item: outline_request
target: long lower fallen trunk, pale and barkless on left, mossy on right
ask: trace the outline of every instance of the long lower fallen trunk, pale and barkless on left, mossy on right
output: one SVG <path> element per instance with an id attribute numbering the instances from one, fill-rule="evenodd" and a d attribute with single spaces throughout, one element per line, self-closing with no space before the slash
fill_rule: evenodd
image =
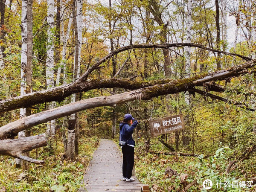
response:
<path id="1" fill-rule="evenodd" d="M 136 99 L 148 100 L 152 97 L 174 94 L 181 91 L 186 91 L 190 87 L 203 85 L 205 82 L 213 80 L 221 80 L 226 77 L 236 76 L 244 71 L 244 69 L 256 65 L 256 60 L 249 61 L 246 64 L 232 67 L 228 70 L 220 70 L 215 73 L 195 76 L 188 79 L 172 80 L 166 84 L 157 84 L 139 90 L 120 93 L 112 96 L 100 96 L 90 99 L 84 99 L 78 102 L 70 103 L 58 108 L 36 113 L 31 116 L 24 117 L 15 122 L 11 122 L 0 128 L 0 138 L 6 138 L 17 134 L 19 131 L 39 125 L 41 123 L 57 119 L 63 116 L 71 115 L 85 109 L 101 107 L 101 106 L 116 106 L 117 104 L 133 101 Z"/>

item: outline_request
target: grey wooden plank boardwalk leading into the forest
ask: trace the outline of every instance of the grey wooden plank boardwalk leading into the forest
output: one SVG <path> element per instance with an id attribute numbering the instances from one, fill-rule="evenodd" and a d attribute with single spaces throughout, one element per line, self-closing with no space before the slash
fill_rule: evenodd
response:
<path id="1" fill-rule="evenodd" d="M 101 139 L 99 148 L 87 166 L 83 187 L 80 192 L 140 192 L 142 186 L 135 176 L 135 181 L 122 181 L 122 153 L 112 140 Z"/>

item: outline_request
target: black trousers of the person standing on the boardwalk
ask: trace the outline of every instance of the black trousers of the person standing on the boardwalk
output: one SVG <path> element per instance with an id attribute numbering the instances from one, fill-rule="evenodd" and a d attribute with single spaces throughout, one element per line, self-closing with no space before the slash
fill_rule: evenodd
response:
<path id="1" fill-rule="evenodd" d="M 123 154 L 123 177 L 131 178 L 131 172 L 134 166 L 134 147 L 125 145 L 122 147 Z"/>

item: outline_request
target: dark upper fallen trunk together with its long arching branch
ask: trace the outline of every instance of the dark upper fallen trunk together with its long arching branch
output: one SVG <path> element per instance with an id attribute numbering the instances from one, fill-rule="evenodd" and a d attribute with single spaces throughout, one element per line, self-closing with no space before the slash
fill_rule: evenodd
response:
<path id="1" fill-rule="evenodd" d="M 198 44 L 192 44 L 192 43 L 176 43 L 176 44 L 154 44 L 154 45 L 131 45 L 127 47 L 122 47 L 120 49 L 116 49 L 115 51 L 109 53 L 104 58 L 102 58 L 100 61 L 98 61 L 95 65 L 90 67 L 79 79 L 76 79 L 74 83 L 65 84 L 62 86 L 54 87 L 49 90 L 41 90 L 34 93 L 26 94 L 24 96 L 17 96 L 14 98 L 6 99 L 3 101 L 0 101 L 0 113 L 18 109 L 18 108 L 28 108 L 32 105 L 36 105 L 39 103 L 44 102 L 52 102 L 52 101 L 62 101 L 65 97 L 70 96 L 73 93 L 78 93 L 81 91 L 87 91 L 91 89 L 96 88 L 113 88 L 113 87 L 119 87 L 119 88 L 126 88 L 126 89 L 138 89 L 143 87 L 148 87 L 153 84 L 163 84 L 171 81 L 170 79 L 164 79 L 164 80 L 155 80 L 155 81 L 129 81 L 128 79 L 95 79 L 91 81 L 87 81 L 87 76 L 95 70 L 97 67 L 99 67 L 100 64 L 105 62 L 108 58 L 111 58 L 113 55 L 116 55 L 119 52 L 128 50 L 128 49 L 134 49 L 134 48 L 163 48 L 167 49 L 169 47 L 198 47 L 202 49 L 207 49 L 213 52 L 221 52 L 227 55 L 232 56 L 238 56 L 240 58 L 243 58 L 247 61 L 252 60 L 249 57 L 239 55 L 236 53 L 229 53 L 229 52 L 223 52 L 220 50 L 215 50 L 211 48 L 204 47 L 202 45 Z M 241 72 L 243 73 L 243 72 Z M 246 72 L 244 72 L 246 73 Z"/>

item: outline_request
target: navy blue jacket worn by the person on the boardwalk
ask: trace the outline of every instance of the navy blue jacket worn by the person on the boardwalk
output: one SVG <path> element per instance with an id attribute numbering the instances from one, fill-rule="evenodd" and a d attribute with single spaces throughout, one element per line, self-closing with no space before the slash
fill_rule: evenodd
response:
<path id="1" fill-rule="evenodd" d="M 137 120 L 135 120 L 133 122 L 131 127 L 128 125 L 128 123 L 120 122 L 120 124 L 119 124 L 119 129 L 120 129 L 119 140 L 121 139 L 121 141 L 127 141 L 131 137 L 131 134 L 133 134 L 133 130 L 137 124 L 138 124 Z M 132 137 L 127 141 L 127 144 L 135 146 L 135 141 L 133 140 Z"/>

